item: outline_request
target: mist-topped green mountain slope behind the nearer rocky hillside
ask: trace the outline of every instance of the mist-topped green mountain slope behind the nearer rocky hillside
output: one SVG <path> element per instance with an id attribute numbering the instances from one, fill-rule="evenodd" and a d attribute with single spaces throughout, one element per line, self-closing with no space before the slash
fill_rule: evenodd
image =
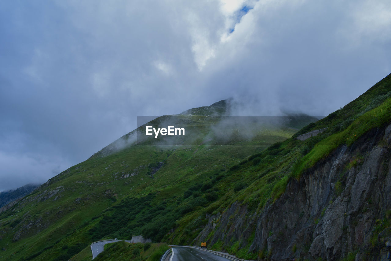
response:
<path id="1" fill-rule="evenodd" d="M 291 125 L 314 121 L 269 119 L 262 128 L 244 128 L 230 120 L 239 130 L 227 139 L 226 133 L 212 131 L 221 122 L 226 126 L 227 119 L 220 117 L 226 106 L 220 101 L 191 109 L 191 116 L 188 112 L 175 116 L 176 123 L 196 130 L 181 140 L 185 145 L 167 145 L 165 137 L 136 139 L 142 125 L 48 180 L 0 214 L 0 257 L 67 260 L 99 239 L 142 234 L 154 241 L 167 240 L 181 219 L 204 211 L 235 186 L 220 182 L 230 176 L 231 166 L 291 137 L 297 132 Z M 165 122 L 167 117 L 149 124 Z M 247 135 L 239 135 L 240 128 Z"/>

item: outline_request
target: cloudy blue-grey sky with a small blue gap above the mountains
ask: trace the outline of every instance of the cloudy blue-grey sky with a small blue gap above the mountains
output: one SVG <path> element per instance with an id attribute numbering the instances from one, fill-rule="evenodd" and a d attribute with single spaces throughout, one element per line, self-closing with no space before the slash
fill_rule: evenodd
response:
<path id="1" fill-rule="evenodd" d="M 388 3 L 387 3 L 388 2 Z M 0 2 L 0 191 L 226 98 L 328 115 L 391 72 L 389 0 Z"/>

